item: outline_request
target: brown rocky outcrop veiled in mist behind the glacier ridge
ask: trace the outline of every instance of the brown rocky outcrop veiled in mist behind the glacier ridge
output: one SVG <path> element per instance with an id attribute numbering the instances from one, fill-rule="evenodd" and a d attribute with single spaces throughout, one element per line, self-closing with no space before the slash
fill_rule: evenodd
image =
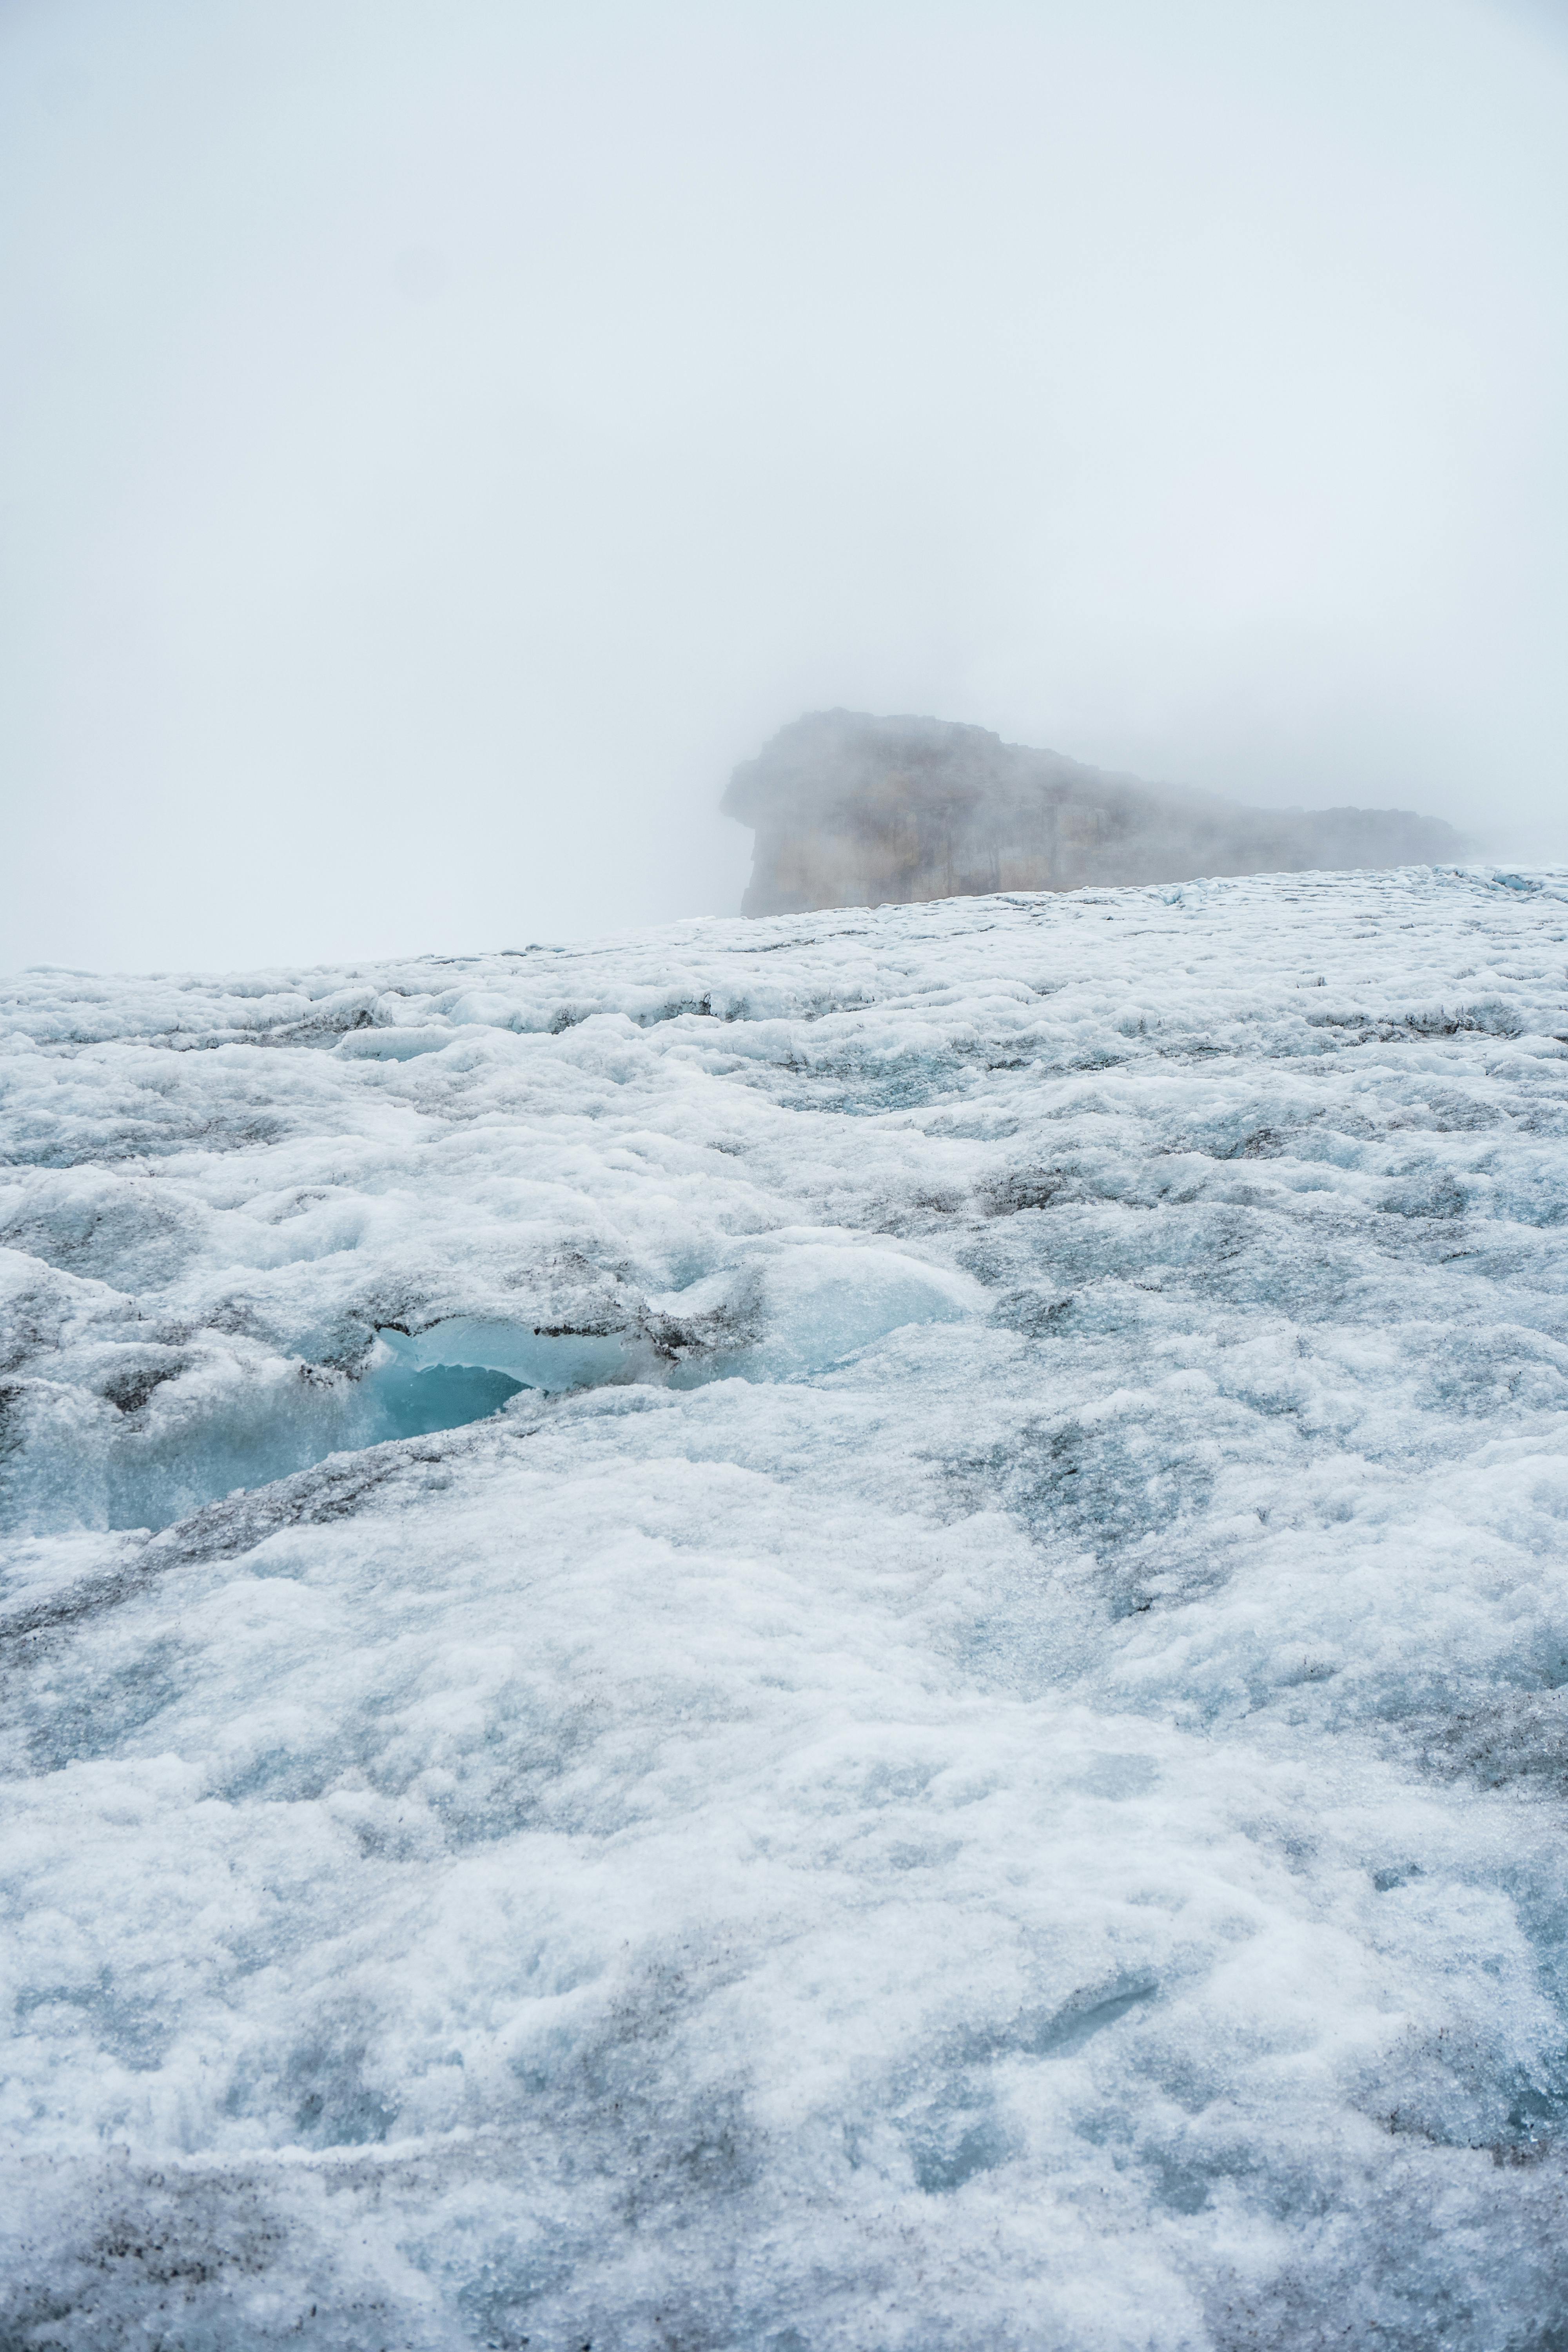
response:
<path id="1" fill-rule="evenodd" d="M 1248 809 L 1110 776 L 952 720 L 813 710 L 731 776 L 757 828 L 745 915 L 997 889 L 1425 866 L 1453 826 L 1403 809 Z"/>

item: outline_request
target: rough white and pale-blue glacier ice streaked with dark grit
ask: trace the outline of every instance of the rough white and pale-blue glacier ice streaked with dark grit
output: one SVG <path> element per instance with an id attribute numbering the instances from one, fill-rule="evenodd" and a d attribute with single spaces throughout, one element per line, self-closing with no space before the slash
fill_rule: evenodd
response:
<path id="1" fill-rule="evenodd" d="M 1563 2352 L 1568 877 L 0 1070 L 7 2347 Z"/>

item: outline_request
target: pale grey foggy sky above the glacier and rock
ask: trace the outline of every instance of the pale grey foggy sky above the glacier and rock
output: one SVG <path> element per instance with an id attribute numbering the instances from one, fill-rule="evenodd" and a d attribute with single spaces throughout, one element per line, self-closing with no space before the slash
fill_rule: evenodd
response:
<path id="1" fill-rule="evenodd" d="M 1568 854 L 1552 0 L 0 0 L 0 964 L 731 913 L 804 708 Z"/>

